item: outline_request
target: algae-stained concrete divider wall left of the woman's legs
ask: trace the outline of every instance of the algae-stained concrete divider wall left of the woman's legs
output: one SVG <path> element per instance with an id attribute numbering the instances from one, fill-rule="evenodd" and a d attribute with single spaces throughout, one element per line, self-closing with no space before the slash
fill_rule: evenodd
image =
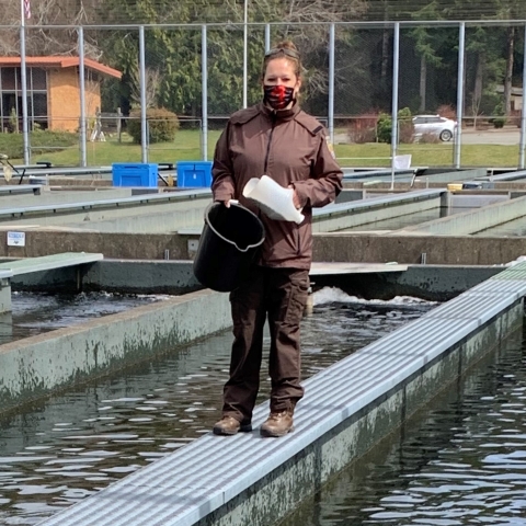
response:
<path id="1" fill-rule="evenodd" d="M 230 324 L 228 295 L 205 290 L 0 345 L 0 411 Z"/>

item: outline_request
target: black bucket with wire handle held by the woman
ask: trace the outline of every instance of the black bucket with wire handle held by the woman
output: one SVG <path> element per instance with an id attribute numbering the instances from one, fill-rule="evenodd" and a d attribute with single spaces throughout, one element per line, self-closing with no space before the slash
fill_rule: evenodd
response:
<path id="1" fill-rule="evenodd" d="M 195 277 L 213 290 L 233 290 L 245 278 L 264 239 L 263 224 L 248 208 L 211 203 L 194 260 Z"/>

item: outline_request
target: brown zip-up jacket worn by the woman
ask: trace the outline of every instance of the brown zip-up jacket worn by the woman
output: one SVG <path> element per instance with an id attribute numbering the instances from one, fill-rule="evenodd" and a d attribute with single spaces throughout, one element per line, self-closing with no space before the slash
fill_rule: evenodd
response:
<path id="1" fill-rule="evenodd" d="M 263 174 L 294 185 L 305 215 L 300 225 L 270 219 L 243 197 L 247 182 Z M 312 207 L 334 201 L 343 175 L 315 117 L 297 104 L 274 112 L 261 103 L 236 112 L 217 141 L 211 175 L 214 201 L 239 199 L 262 220 L 260 265 L 310 268 Z"/>

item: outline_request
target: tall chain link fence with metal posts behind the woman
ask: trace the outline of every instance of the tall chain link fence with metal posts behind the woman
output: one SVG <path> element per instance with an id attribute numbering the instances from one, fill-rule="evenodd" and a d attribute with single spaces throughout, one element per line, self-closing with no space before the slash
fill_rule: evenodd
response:
<path id="1" fill-rule="evenodd" d="M 329 23 L 0 26 L 0 150 L 23 132 L 24 58 L 32 161 L 210 159 L 228 116 L 261 100 L 265 49 L 291 39 L 304 62 L 301 105 L 327 125 L 342 165 L 390 167 L 410 155 L 421 165 L 524 168 L 523 24 L 356 22 L 332 31 L 331 39 Z M 128 130 L 134 119 L 138 136 Z M 65 133 L 78 136 L 75 146 L 57 145 Z"/>

